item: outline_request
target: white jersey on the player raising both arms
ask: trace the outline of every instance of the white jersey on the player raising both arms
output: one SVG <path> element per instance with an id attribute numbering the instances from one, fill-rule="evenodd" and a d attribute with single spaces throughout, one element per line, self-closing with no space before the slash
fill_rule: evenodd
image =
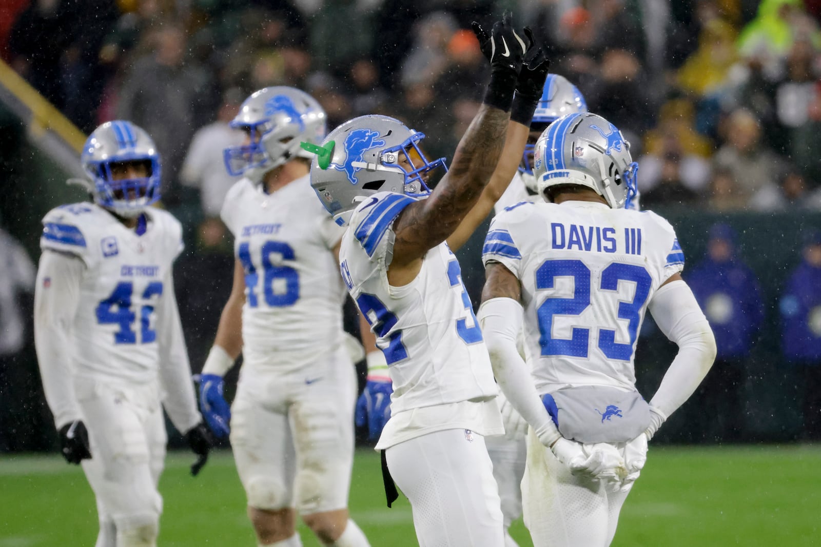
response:
<path id="1" fill-rule="evenodd" d="M 459 262 L 447 244 L 425 254 L 415 280 L 388 285 L 391 226 L 413 202 L 391 192 L 369 196 L 351 216 L 339 253 L 342 278 L 388 361 L 394 415 L 497 393 Z"/>

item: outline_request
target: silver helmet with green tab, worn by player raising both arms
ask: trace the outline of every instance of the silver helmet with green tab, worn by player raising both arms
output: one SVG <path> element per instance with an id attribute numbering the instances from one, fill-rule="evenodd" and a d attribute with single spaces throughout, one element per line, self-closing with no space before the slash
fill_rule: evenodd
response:
<path id="1" fill-rule="evenodd" d="M 424 133 L 388 116 L 360 116 L 333 130 L 323 145 L 303 144 L 317 155 L 310 184 L 334 221 L 344 226 L 356 206 L 371 194 L 389 191 L 426 198 L 429 172 L 445 158 L 429 162 L 419 143 Z"/>

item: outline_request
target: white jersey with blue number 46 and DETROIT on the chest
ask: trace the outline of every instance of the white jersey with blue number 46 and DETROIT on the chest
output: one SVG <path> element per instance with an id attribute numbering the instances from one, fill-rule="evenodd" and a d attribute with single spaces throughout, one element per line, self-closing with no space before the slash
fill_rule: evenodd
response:
<path id="1" fill-rule="evenodd" d="M 228 191 L 221 216 L 245 268 L 244 367 L 296 370 L 342 344 L 345 288 L 333 248 L 345 230 L 309 176 L 273 194 L 242 179 Z"/>

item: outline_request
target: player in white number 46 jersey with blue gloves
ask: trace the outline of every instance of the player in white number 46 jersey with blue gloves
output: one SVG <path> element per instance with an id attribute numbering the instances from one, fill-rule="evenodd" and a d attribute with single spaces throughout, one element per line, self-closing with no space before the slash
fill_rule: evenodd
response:
<path id="1" fill-rule="evenodd" d="M 337 267 L 344 230 L 310 187 L 310 153 L 325 112 L 290 87 L 252 93 L 232 127 L 245 144 L 225 150 L 243 175 L 222 205 L 236 267 L 216 340 L 200 377 L 209 426 L 229 433 L 259 545 L 302 545 L 296 513 L 323 545 L 361 547 L 348 516 L 355 368 L 342 329 L 345 287 Z M 223 380 L 243 365 L 231 412 Z"/>

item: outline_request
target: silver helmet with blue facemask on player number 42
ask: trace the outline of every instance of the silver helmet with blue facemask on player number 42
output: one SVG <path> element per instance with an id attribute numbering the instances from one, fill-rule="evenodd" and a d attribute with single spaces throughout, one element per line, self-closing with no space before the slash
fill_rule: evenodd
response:
<path id="1" fill-rule="evenodd" d="M 115 179 L 112 166 L 140 162 L 145 176 Z M 159 199 L 160 162 L 157 147 L 149 134 L 130 121 L 108 121 L 89 135 L 83 145 L 80 164 L 92 184 L 84 185 L 101 207 L 121 217 L 137 217 Z"/>

